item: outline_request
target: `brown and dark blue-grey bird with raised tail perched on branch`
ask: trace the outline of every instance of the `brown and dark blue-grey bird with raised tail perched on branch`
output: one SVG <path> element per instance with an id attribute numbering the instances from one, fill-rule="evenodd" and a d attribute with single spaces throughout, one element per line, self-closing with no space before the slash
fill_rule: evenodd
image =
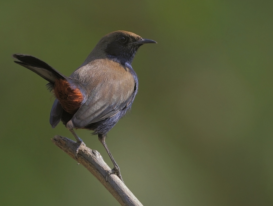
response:
<path id="1" fill-rule="evenodd" d="M 55 128 L 62 121 L 73 134 L 78 143 L 76 158 L 79 148 L 85 144 L 74 129 L 87 129 L 98 135 L 114 165 L 108 171 L 106 181 L 111 174 L 116 174 L 123 181 L 105 138 L 131 109 L 138 91 L 138 78 L 132 61 L 138 48 L 148 43 L 157 42 L 132 32 L 111 32 L 99 40 L 83 64 L 69 77 L 31 55 L 12 55 L 15 63 L 48 81 L 47 88 L 56 97 L 49 122 Z"/>

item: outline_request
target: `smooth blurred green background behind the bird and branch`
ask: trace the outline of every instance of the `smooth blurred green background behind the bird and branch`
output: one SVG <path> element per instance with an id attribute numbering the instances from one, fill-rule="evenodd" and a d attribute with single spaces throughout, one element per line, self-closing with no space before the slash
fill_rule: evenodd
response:
<path id="1" fill-rule="evenodd" d="M 50 138 L 46 81 L 13 63 L 34 55 L 70 75 L 103 35 L 142 46 L 132 112 L 108 133 L 143 205 L 273 205 L 273 1 L 1 1 L 1 205 L 119 205 Z M 90 131 L 87 146 L 113 165 Z M 74 140 L 74 139 L 73 139 Z"/>

